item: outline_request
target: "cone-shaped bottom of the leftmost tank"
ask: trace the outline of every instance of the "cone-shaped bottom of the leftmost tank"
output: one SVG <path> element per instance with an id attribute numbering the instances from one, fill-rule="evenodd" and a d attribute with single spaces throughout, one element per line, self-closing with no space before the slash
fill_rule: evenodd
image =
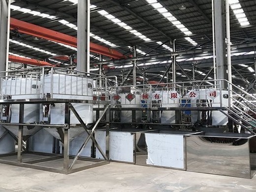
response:
<path id="1" fill-rule="evenodd" d="M 8 129 L 10 132 L 12 132 L 18 138 L 19 126 L 3 125 L 3 127 Z M 34 135 L 40 129 L 41 129 L 40 126 L 34 126 L 33 124 L 31 124 L 30 126 L 23 126 L 23 140 L 27 141 L 32 135 Z"/>

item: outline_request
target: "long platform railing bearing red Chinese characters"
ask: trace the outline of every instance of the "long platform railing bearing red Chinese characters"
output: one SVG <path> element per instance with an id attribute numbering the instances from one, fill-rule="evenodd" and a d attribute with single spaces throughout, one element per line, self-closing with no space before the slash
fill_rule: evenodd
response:
<path id="1" fill-rule="evenodd" d="M 227 107 L 226 80 L 161 83 L 109 88 L 112 106 L 118 107 Z"/>

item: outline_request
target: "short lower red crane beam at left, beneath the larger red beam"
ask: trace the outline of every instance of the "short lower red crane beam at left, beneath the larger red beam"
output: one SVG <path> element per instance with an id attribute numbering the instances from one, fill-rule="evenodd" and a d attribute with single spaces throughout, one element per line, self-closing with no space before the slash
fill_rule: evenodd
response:
<path id="1" fill-rule="evenodd" d="M 15 63 L 21 63 L 21 64 L 31 64 L 36 66 L 56 66 L 54 64 L 49 64 L 48 62 L 18 57 L 14 55 L 9 55 L 9 61 L 15 62 Z"/>

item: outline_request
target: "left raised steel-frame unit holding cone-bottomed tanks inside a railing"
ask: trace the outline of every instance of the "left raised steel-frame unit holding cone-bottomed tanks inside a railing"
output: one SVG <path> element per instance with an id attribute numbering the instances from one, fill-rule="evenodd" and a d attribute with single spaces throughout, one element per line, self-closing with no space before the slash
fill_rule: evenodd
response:
<path id="1" fill-rule="evenodd" d="M 2 76 L 0 142 L 8 141 L 8 148 L 0 151 L 7 153 L 0 155 L 0 162 L 65 174 L 108 163 L 106 152 L 94 138 L 101 117 L 93 124 L 93 104 L 105 107 L 103 115 L 109 103 L 93 99 L 93 89 L 97 90 L 93 81 L 98 78 L 106 80 L 55 67 L 16 70 Z M 17 152 L 9 134 L 18 143 Z M 95 150 L 86 146 L 92 144 L 104 160 L 91 159 Z M 83 154 L 89 158 L 82 158 Z"/>

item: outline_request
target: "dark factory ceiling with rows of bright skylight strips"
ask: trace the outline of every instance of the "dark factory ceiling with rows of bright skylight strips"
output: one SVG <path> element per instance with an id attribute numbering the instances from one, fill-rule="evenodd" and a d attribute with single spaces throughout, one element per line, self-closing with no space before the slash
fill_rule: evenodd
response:
<path id="1" fill-rule="evenodd" d="M 256 1 L 229 3 L 232 77 L 246 88 L 256 73 Z M 171 64 L 176 39 L 177 81 L 213 79 L 211 0 L 91 0 L 90 8 L 91 42 L 127 56 L 120 60 L 103 56 L 99 62 L 99 55 L 92 52 L 92 72 L 104 64 L 106 75 L 118 75 L 122 81 L 132 69 L 131 47 L 136 46 L 138 83 L 159 81 Z M 77 0 L 15 0 L 11 17 L 73 37 L 77 34 Z M 76 48 L 17 29 L 11 32 L 10 54 L 65 66 L 70 60 L 60 56 L 75 58 Z M 171 82 L 171 71 L 167 74 L 163 82 Z M 128 77 L 127 83 L 131 82 Z"/>

